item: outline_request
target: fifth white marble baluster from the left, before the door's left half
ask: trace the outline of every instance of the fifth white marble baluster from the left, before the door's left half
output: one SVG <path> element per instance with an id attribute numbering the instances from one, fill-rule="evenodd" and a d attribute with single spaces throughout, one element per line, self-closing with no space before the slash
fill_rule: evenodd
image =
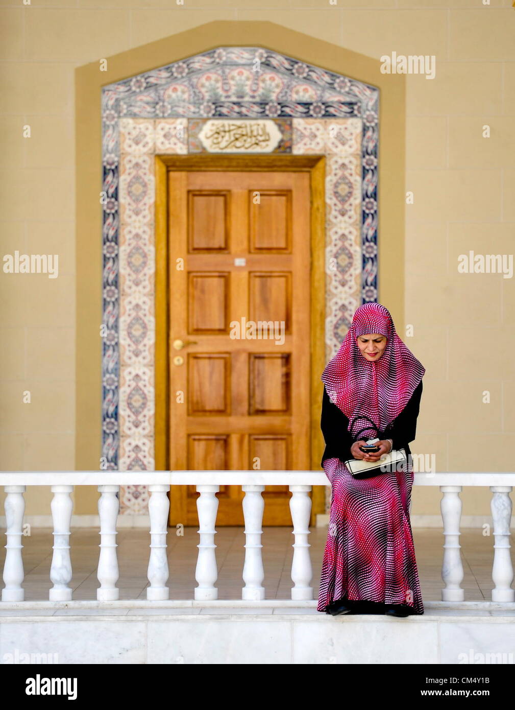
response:
<path id="1" fill-rule="evenodd" d="M 196 560 L 195 579 L 199 586 L 195 587 L 195 599 L 218 599 L 218 589 L 214 586 L 218 577 L 214 536 L 216 535 L 216 513 L 218 512 L 218 493 L 220 486 L 196 486 L 200 496 L 196 499 L 196 510 L 199 514 L 200 542 L 199 557 Z"/>

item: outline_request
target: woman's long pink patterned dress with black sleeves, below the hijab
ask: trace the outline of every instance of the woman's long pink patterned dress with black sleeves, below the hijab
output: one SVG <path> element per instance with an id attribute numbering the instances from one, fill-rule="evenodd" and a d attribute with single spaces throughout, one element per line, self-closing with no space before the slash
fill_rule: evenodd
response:
<path id="1" fill-rule="evenodd" d="M 380 438 L 393 439 L 394 449 L 415 438 L 422 383 L 402 413 Z M 384 473 L 355 479 L 342 459 L 351 458 L 353 443 L 346 432 L 347 417 L 324 389 L 321 426 L 326 439 L 323 469 L 331 482 L 331 515 L 321 569 L 317 611 L 345 599 L 379 604 L 406 604 L 422 614 L 409 503 L 414 474 Z M 345 428 L 344 428 L 345 427 Z M 345 435 L 346 432 L 346 435 Z M 334 454 L 339 453 L 339 456 Z"/>

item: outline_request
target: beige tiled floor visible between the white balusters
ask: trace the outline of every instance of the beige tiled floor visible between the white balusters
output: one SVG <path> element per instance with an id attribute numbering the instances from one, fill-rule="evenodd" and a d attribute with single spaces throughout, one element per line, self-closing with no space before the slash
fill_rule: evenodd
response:
<path id="1" fill-rule="evenodd" d="M 465 601 L 488 601 L 492 590 L 493 537 L 485 537 L 482 528 L 462 530 L 463 582 Z M 416 559 L 419 567 L 424 601 L 441 600 L 441 565 L 443 535 L 436 528 L 415 528 L 413 531 Z M 327 528 L 311 528 L 311 562 L 313 564 L 314 598 L 318 596 L 319 574 L 326 543 Z M 99 555 L 99 532 L 96 528 L 72 528 L 71 556 L 73 567 L 73 599 L 96 599 L 96 564 Z M 147 567 L 150 536 L 139 528 L 118 532 L 118 565 L 120 599 L 145 599 L 148 584 Z M 176 530 L 168 532 L 168 562 L 170 567 L 170 599 L 193 599 L 195 565 L 199 535 L 196 527 L 184 528 L 184 536 Z M 218 599 L 241 599 L 242 571 L 245 550 L 243 528 L 218 528 L 216 538 L 218 564 Z M 291 528 L 263 528 L 262 555 L 265 567 L 263 586 L 266 599 L 291 599 L 290 569 L 293 537 Z M 31 530 L 23 537 L 26 601 L 48 600 L 50 563 L 52 561 L 52 530 Z M 4 547 L 0 547 L 3 567 Z M 515 564 L 514 548 L 511 549 Z"/>

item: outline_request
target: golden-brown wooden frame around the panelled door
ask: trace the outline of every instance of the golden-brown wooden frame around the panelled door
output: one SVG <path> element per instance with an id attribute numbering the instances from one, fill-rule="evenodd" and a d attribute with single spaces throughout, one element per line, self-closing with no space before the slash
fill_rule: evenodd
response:
<path id="1" fill-rule="evenodd" d="M 168 195 L 167 173 L 171 170 L 216 170 L 309 173 L 311 194 L 311 386 L 310 386 L 310 466 L 320 467 L 323 437 L 320 430 L 321 380 L 325 366 L 326 322 L 326 201 L 325 155 L 155 155 L 155 470 L 169 471 L 170 437 L 170 352 L 168 337 Z M 313 486 L 310 525 L 325 512 L 325 486 Z"/>

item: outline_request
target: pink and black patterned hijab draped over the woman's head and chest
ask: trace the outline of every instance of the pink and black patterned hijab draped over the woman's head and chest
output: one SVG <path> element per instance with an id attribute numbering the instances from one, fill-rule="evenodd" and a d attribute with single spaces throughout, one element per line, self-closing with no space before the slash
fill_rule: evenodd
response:
<path id="1" fill-rule="evenodd" d="M 385 335 L 387 346 L 380 359 L 368 361 L 356 339 L 373 333 Z M 326 365 L 321 380 L 331 402 L 348 417 L 350 433 L 357 435 L 370 420 L 384 432 L 402 412 L 425 371 L 395 332 L 388 310 L 380 303 L 370 302 L 356 310 L 350 329 Z M 370 425 L 369 432 L 362 432 L 360 439 L 375 436 L 376 431 Z"/>

